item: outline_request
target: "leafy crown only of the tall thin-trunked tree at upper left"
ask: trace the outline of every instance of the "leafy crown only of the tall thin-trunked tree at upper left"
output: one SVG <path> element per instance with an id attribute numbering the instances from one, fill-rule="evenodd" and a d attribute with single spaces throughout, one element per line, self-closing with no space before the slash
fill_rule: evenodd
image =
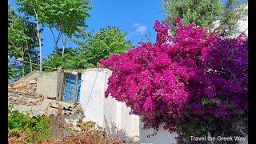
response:
<path id="1" fill-rule="evenodd" d="M 86 0 L 18 0 L 17 3 L 22 6 L 20 11 L 34 16 L 35 10 L 42 25 L 57 27 L 64 34 L 79 32 L 79 28 L 86 27 L 84 20 L 90 17 Z"/>

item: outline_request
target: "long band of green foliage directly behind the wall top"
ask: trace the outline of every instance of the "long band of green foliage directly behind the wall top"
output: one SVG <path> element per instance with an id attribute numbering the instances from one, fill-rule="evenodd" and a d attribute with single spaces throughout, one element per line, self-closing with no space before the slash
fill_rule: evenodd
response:
<path id="1" fill-rule="evenodd" d="M 86 69 L 97 66 L 102 58 L 109 58 L 111 54 L 121 54 L 130 49 L 130 42 L 125 40 L 126 34 L 120 29 L 108 26 L 99 30 L 97 34 L 87 34 L 86 42 L 80 43 L 81 47 L 66 49 L 58 48 L 56 54 L 51 54 L 43 61 L 45 70 L 52 71 L 50 67 L 62 66 L 66 70 Z"/>

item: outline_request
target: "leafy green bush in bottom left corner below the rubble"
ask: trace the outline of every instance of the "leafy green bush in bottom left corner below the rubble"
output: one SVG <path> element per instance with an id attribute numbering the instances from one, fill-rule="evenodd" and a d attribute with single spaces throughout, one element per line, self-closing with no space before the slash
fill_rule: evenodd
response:
<path id="1" fill-rule="evenodd" d="M 19 138 L 26 133 L 26 142 L 41 142 L 51 136 L 49 117 L 30 118 L 17 110 L 8 109 L 8 129 L 10 137 Z"/>

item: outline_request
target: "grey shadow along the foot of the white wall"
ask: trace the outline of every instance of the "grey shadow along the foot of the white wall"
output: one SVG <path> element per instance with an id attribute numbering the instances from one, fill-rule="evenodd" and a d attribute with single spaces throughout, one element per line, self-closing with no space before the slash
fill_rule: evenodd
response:
<path id="1" fill-rule="evenodd" d="M 104 115 L 104 123 L 105 123 L 105 128 L 108 134 L 110 134 L 111 138 L 118 138 L 118 139 L 122 139 L 122 141 L 124 143 L 133 143 L 133 144 L 137 144 L 138 142 L 134 142 L 134 138 L 129 137 L 126 134 L 125 130 L 119 130 L 118 129 L 118 125 L 115 122 L 112 122 L 112 120 L 110 119 L 110 122 L 106 121 L 106 117 Z"/>

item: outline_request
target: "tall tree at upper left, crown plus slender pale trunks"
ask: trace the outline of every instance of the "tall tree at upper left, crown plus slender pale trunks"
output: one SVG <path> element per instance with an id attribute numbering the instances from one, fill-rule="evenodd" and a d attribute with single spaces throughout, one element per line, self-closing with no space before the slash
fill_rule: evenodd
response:
<path id="1" fill-rule="evenodd" d="M 73 36 L 80 38 L 85 31 L 86 18 L 90 15 L 87 0 L 18 0 L 21 6 L 19 10 L 26 15 L 35 18 L 37 28 L 47 26 L 54 37 L 54 49 L 62 38 L 62 55 L 64 55 L 66 42 Z M 58 30 L 58 36 L 54 35 L 53 29 Z M 40 70 L 42 70 L 42 46 L 41 34 L 38 31 L 38 42 L 40 48 Z"/>

